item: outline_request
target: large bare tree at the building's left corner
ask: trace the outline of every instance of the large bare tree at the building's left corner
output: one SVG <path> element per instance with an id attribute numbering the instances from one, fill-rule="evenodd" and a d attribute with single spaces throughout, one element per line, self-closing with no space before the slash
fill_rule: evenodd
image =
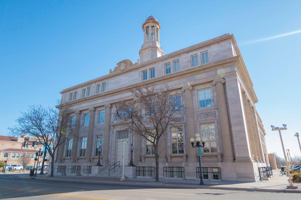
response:
<path id="1" fill-rule="evenodd" d="M 45 108 L 42 105 L 29 106 L 27 112 L 16 122 L 17 125 L 9 127 L 11 136 L 27 134 L 43 144 L 51 157 L 51 173 L 53 177 L 55 151 L 60 145 L 71 137 L 76 129 L 75 121 L 71 121 L 72 108 L 59 102 L 58 109 Z"/>

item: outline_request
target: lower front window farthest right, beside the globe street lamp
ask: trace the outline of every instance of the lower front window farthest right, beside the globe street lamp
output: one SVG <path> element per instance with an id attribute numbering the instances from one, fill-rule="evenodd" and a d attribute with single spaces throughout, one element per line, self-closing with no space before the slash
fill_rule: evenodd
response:
<path id="1" fill-rule="evenodd" d="M 215 136 L 215 125 L 214 122 L 200 124 L 202 137 L 205 138 L 205 147 L 203 148 L 204 153 L 216 153 L 216 136 Z"/>

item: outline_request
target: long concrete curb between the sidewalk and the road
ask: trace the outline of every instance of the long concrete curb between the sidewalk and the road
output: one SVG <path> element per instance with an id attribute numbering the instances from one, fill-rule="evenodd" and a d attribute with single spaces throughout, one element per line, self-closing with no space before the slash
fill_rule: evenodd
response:
<path id="1" fill-rule="evenodd" d="M 30 177 L 18 176 L 19 178 L 30 179 Z M 186 189 L 219 189 L 219 190 L 238 190 L 238 191 L 252 191 L 252 192 L 282 192 L 282 193 L 301 193 L 301 190 L 291 189 L 263 189 L 263 188 L 244 188 L 244 187 L 219 187 L 219 186 L 198 186 L 198 185 L 176 185 L 176 184 L 157 184 L 157 183 L 140 183 L 140 182 L 117 182 L 117 181 L 95 181 L 95 180 L 76 180 L 64 178 L 49 178 L 36 177 L 40 180 L 48 181 L 64 181 L 64 182 L 80 182 L 80 183 L 105 183 L 118 185 L 136 185 L 136 186 L 156 186 L 163 188 L 186 188 Z"/>

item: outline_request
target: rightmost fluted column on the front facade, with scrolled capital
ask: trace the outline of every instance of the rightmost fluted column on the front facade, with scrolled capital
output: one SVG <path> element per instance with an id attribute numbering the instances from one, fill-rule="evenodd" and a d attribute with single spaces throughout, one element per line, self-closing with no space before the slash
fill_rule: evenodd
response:
<path id="1" fill-rule="evenodd" d="M 219 109 L 219 123 L 221 129 L 221 137 L 223 143 L 223 162 L 233 162 L 233 148 L 231 141 L 231 132 L 229 126 L 229 117 L 226 104 L 226 96 L 224 90 L 225 79 L 220 79 L 212 82 L 215 85 L 217 95 L 217 106 Z"/>

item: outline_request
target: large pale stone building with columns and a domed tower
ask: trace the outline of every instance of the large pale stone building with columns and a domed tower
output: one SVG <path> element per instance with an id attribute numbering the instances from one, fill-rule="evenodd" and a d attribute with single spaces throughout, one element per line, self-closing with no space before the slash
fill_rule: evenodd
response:
<path id="1" fill-rule="evenodd" d="M 192 148 L 190 138 L 200 133 L 206 138 L 201 158 L 205 178 L 257 181 L 258 167 L 266 166 L 266 133 L 234 35 L 224 34 L 164 55 L 160 28 L 152 16 L 142 24 L 143 44 L 138 62 L 122 60 L 109 74 L 61 91 L 62 101 L 76 110 L 72 121 L 79 123 L 80 129 L 65 146 L 60 146 L 55 171 L 61 172 L 63 166 L 67 173 L 68 168 L 80 166 L 77 169 L 82 175 L 90 173 L 89 166 L 98 162 L 99 142 L 103 171 L 94 175 L 108 174 L 108 167 L 118 161 L 129 165 L 130 144 L 134 146 L 135 166 L 148 167 L 144 170 L 154 167 L 151 145 L 126 130 L 126 123 L 120 121 L 113 104 L 130 99 L 130 90 L 137 85 L 156 83 L 159 87 L 173 87 L 179 103 L 190 108 L 183 110 L 184 123 L 169 127 L 161 140 L 160 177 L 197 178 L 197 150 Z M 124 163 L 123 140 L 128 141 Z M 169 171 L 168 175 L 164 170 Z M 173 170 L 185 173 L 174 175 L 170 172 Z"/>

